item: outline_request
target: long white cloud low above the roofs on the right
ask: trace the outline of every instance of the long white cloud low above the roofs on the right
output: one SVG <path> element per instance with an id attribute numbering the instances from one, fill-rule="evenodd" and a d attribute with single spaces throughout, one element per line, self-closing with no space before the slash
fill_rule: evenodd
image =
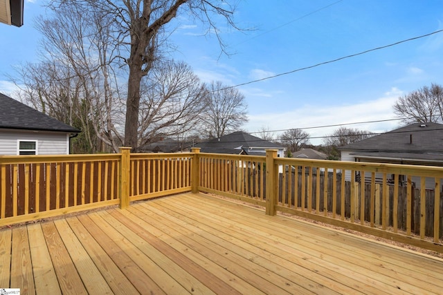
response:
<path id="1" fill-rule="evenodd" d="M 390 91 L 387 91 L 377 99 L 357 104 L 340 105 L 338 102 L 332 102 L 329 105 L 307 104 L 284 113 L 248 115 L 249 122 L 244 127 L 249 132 L 260 131 L 262 126 L 268 127 L 270 131 L 299 128 L 305 129 L 311 137 L 323 137 L 338 128 L 338 126 L 330 125 L 395 119 L 392 106 L 402 93 L 398 88 L 391 88 Z M 325 127 L 310 128 L 318 126 Z M 397 128 L 399 121 L 361 123 L 346 126 L 381 133 Z M 313 138 L 311 143 L 321 144 L 322 139 Z"/>

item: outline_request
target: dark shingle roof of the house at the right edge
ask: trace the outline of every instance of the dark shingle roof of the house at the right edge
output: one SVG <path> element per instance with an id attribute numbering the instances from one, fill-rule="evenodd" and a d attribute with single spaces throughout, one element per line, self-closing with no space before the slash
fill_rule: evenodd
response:
<path id="1" fill-rule="evenodd" d="M 443 124 L 414 123 L 341 146 L 339 150 L 371 158 L 442 160 Z"/>

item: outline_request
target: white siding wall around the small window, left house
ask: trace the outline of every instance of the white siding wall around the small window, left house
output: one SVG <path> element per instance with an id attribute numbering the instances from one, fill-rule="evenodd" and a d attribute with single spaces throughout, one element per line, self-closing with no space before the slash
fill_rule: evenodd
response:
<path id="1" fill-rule="evenodd" d="M 38 155 L 66 155 L 69 137 L 66 133 L 0 130 L 0 155 L 17 155 L 17 140 L 37 140 Z"/>

